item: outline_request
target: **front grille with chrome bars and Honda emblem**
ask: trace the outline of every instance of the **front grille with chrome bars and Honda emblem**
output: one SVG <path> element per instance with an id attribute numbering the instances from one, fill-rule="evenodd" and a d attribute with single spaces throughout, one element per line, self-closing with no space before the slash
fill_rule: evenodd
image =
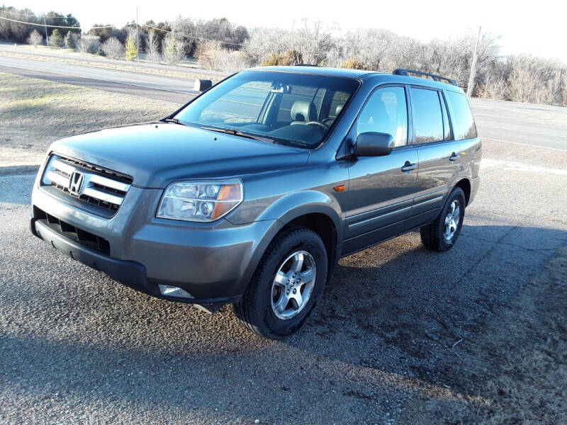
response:
<path id="1" fill-rule="evenodd" d="M 43 174 L 42 183 L 52 186 L 89 205 L 101 215 L 113 215 L 133 183 L 130 176 L 102 167 L 53 154 Z"/>

